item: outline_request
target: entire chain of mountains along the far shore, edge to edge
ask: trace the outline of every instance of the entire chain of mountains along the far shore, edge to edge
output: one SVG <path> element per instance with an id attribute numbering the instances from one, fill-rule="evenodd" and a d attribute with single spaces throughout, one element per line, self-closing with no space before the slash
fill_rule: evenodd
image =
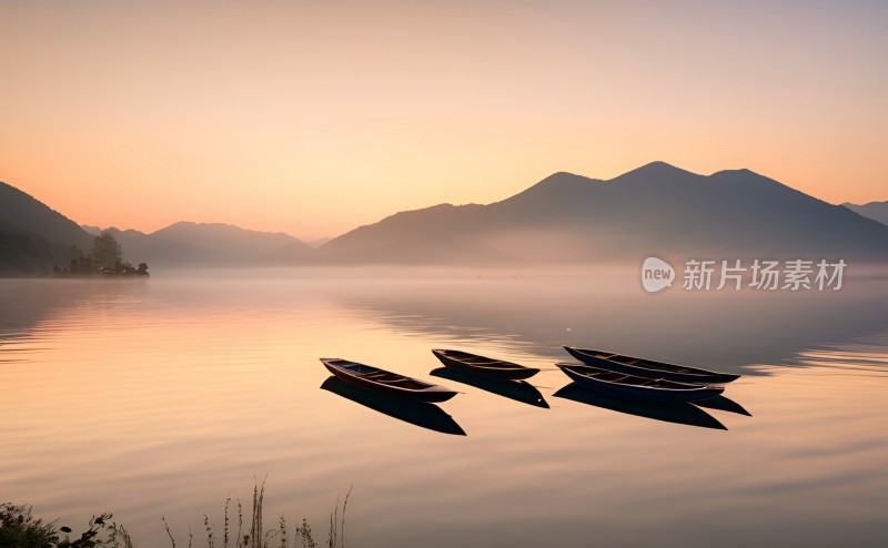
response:
<path id="1" fill-rule="evenodd" d="M 558 172 L 487 205 L 438 204 L 356 227 L 316 250 L 282 233 L 180 222 L 109 229 L 124 258 L 161 267 L 496 265 L 708 258 L 888 262 L 886 203 L 831 205 L 749 170 L 699 175 L 653 162 L 604 181 Z M 855 209 L 866 209 L 867 216 Z M 874 213 L 876 211 L 876 213 Z M 0 183 L 0 274 L 34 275 L 88 252 L 97 226 Z M 92 233 L 92 234 L 91 234 Z"/>

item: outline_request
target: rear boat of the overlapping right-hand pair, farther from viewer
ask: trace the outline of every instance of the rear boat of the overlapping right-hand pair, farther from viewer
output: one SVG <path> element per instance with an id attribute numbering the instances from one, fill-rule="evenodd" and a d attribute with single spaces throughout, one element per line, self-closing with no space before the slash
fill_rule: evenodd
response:
<path id="1" fill-rule="evenodd" d="M 740 377 L 740 375 L 730 373 L 698 369 L 613 352 L 574 348 L 573 346 L 565 346 L 564 349 L 586 365 L 646 378 L 664 378 L 692 384 L 726 384 Z"/>

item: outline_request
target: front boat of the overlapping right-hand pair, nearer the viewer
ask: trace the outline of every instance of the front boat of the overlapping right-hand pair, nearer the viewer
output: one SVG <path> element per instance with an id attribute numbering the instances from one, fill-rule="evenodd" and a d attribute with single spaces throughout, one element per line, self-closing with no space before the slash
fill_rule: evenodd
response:
<path id="1" fill-rule="evenodd" d="M 591 365 L 556 364 L 578 386 L 614 396 L 658 402 L 695 402 L 722 394 L 723 386 L 700 386 L 674 380 L 636 377 Z"/>

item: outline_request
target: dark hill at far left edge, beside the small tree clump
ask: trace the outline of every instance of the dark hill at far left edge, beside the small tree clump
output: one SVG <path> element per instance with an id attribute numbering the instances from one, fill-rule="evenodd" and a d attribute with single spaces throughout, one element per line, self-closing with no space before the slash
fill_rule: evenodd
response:
<path id="1" fill-rule="evenodd" d="M 0 182 L 0 275 L 46 274 L 91 248 L 92 236 L 77 223 Z"/>

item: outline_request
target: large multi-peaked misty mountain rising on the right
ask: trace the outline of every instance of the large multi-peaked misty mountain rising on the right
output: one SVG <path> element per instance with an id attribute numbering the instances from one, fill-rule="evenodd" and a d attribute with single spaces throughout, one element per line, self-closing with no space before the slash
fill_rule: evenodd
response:
<path id="1" fill-rule="evenodd" d="M 654 162 L 609 181 L 555 173 L 488 205 L 442 204 L 361 226 L 326 263 L 481 264 L 675 257 L 888 261 L 888 227 L 748 170 Z"/>

